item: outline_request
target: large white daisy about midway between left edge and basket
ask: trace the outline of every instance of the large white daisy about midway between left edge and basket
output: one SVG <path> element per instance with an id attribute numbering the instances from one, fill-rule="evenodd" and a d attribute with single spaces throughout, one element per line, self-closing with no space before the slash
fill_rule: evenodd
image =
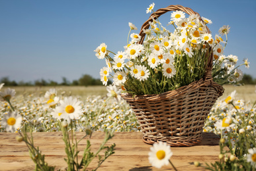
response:
<path id="1" fill-rule="evenodd" d="M 77 119 L 82 115 L 81 101 L 73 97 L 65 97 L 64 100 L 60 101 L 60 106 L 56 107 L 56 110 L 64 114 L 66 120 Z"/>

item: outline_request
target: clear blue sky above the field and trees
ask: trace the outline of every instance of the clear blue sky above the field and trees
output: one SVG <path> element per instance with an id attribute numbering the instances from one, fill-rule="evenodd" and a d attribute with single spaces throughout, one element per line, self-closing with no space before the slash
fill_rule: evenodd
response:
<path id="1" fill-rule="evenodd" d="M 110 51 L 123 51 L 128 22 L 140 32 L 148 20 L 146 9 L 169 5 L 190 7 L 212 20 L 212 35 L 229 25 L 228 45 L 224 55 L 237 55 L 238 64 L 248 58 L 250 68 L 241 66 L 256 78 L 255 28 L 256 1 L 65 1 L 0 0 L 0 78 L 25 82 L 78 80 L 83 74 L 99 78 L 105 61 L 94 50 L 106 43 Z M 171 12 L 159 18 L 167 26 Z"/>

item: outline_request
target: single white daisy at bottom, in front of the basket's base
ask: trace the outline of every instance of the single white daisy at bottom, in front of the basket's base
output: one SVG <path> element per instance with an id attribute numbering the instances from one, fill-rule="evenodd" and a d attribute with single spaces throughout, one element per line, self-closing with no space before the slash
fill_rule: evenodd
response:
<path id="1" fill-rule="evenodd" d="M 167 143 L 159 142 L 154 143 L 153 147 L 150 147 L 149 162 L 156 168 L 161 168 L 163 165 L 169 163 L 169 159 L 173 155 L 171 147 Z"/>

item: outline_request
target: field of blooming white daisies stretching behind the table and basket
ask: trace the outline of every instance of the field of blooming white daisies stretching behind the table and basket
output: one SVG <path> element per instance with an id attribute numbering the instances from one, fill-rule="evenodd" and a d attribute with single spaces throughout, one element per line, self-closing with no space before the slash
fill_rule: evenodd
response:
<path id="1" fill-rule="evenodd" d="M 229 155 L 226 155 L 227 151 L 221 151 L 220 166 L 224 167 L 230 164 L 230 167 L 237 168 L 243 165 L 251 170 L 256 166 L 255 86 L 224 87 L 226 91 L 212 108 L 203 131 L 220 135 L 222 138 L 220 147 L 228 146 L 230 148 Z M 4 95 L 8 89 L 10 88 L 3 86 L 1 95 Z M 58 97 L 58 101 L 62 101 L 62 103 L 67 99 L 80 102 L 81 115 L 71 119 L 74 123 L 72 129 L 75 132 L 88 130 L 140 132 L 140 124 L 136 120 L 136 116 L 129 105 L 123 99 L 118 98 L 120 91 L 117 89 L 108 88 L 107 91 L 105 86 L 11 87 L 11 89 L 15 92 L 9 93 L 11 105 L 22 120 L 19 128 L 16 128 L 16 131 L 13 130 L 15 132 L 24 126 L 27 131 L 32 132 L 59 132 L 62 130 L 61 118 L 58 118 L 60 112 L 53 112 L 55 106 L 50 100 L 52 94 L 54 94 L 54 98 Z M 76 105 L 73 106 L 76 107 Z M 10 110 L 9 103 L 2 99 L 0 101 L 0 132 L 10 131 L 7 124 L 4 123 L 5 116 L 9 114 Z M 67 128 L 70 130 L 70 125 Z M 198 162 L 200 165 L 200 161 Z M 218 166 L 215 167 L 218 168 Z"/>

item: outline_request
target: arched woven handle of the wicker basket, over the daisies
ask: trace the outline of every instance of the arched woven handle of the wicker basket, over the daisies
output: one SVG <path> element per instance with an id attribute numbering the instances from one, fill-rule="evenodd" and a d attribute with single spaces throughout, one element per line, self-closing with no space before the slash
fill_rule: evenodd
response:
<path id="1" fill-rule="evenodd" d="M 149 19 L 148 20 L 146 20 L 146 22 L 144 22 L 144 24 L 142 25 L 142 28 L 140 29 L 140 36 L 142 36 L 142 38 L 141 38 L 141 40 L 140 40 L 140 42 L 138 42 L 138 43 L 140 43 L 140 44 L 142 44 L 143 43 L 143 41 L 144 41 L 144 38 L 145 38 L 145 36 L 146 36 L 146 34 L 143 32 L 143 30 L 145 29 L 148 29 L 149 28 L 149 22 L 152 22 L 153 21 L 153 19 L 152 18 L 154 18 L 154 19 L 156 19 L 156 18 L 159 18 L 159 16 L 161 16 L 162 14 L 165 14 L 166 12 L 168 12 L 168 11 L 183 11 L 183 12 L 186 12 L 187 14 L 189 14 L 189 15 L 192 15 L 192 14 L 198 14 L 198 12 L 194 12 L 194 11 L 192 11 L 192 9 L 190 9 L 190 8 L 188 8 L 188 7 L 183 7 L 183 6 L 181 6 L 181 5 L 170 5 L 170 6 L 168 6 L 168 7 L 166 7 L 166 8 L 163 8 L 163 9 L 158 9 L 157 11 L 155 11 L 155 13 L 152 13 L 151 15 L 150 15 L 150 17 L 149 17 Z M 199 16 L 199 19 L 200 20 L 202 20 L 202 18 L 200 17 L 200 15 L 198 14 L 198 16 Z M 206 26 L 206 30 L 207 30 L 207 32 L 208 33 L 210 33 L 210 30 L 209 30 L 209 28 Z M 209 57 L 208 57 L 208 62 L 207 62 L 207 64 L 206 64 L 206 70 L 210 70 L 210 72 L 211 72 L 211 70 L 212 70 L 212 62 L 213 62 L 213 54 L 211 53 L 210 55 L 209 55 Z M 208 76 L 210 76 L 211 77 L 211 73 L 210 74 L 207 74 L 207 77 Z"/>

